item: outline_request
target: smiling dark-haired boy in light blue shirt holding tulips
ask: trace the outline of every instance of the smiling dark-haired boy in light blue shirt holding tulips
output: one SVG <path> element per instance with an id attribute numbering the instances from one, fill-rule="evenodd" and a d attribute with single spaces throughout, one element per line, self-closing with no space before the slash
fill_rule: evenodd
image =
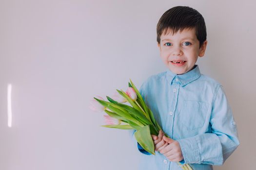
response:
<path id="1" fill-rule="evenodd" d="M 204 18 L 197 10 L 177 6 L 158 21 L 157 41 L 167 71 L 149 77 L 140 87 L 163 132 L 152 136 L 156 155 L 139 145 L 141 170 L 194 170 L 222 165 L 239 145 L 236 122 L 222 85 L 200 73 L 197 58 L 206 46 Z"/>

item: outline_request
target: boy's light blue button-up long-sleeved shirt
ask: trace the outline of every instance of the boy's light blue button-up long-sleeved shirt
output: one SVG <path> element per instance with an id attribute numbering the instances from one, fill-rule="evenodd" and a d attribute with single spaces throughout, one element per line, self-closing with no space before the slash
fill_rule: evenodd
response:
<path id="1" fill-rule="evenodd" d="M 140 93 L 163 131 L 177 140 L 194 170 L 222 165 L 239 145 L 236 122 L 222 85 L 200 73 L 198 66 L 185 74 L 170 70 L 149 77 Z M 141 154 L 140 170 L 181 170 L 164 155 Z"/>

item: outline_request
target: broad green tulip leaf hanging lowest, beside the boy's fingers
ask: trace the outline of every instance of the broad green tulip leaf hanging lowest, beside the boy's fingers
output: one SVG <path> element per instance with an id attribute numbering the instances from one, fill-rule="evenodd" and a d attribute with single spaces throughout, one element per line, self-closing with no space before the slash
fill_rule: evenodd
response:
<path id="1" fill-rule="evenodd" d="M 156 154 L 154 142 L 150 134 L 149 125 L 140 128 L 134 133 L 134 136 L 144 150 L 149 153 Z"/>

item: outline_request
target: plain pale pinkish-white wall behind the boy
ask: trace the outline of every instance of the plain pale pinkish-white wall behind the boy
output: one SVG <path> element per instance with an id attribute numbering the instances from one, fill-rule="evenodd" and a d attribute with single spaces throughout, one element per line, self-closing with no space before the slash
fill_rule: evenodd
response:
<path id="1" fill-rule="evenodd" d="M 103 113 L 88 104 L 166 70 L 156 25 L 177 5 L 203 15 L 208 47 L 197 64 L 224 86 L 237 123 L 240 146 L 215 169 L 253 170 L 253 0 L 0 0 L 0 170 L 136 169 L 127 131 L 100 127 Z"/>

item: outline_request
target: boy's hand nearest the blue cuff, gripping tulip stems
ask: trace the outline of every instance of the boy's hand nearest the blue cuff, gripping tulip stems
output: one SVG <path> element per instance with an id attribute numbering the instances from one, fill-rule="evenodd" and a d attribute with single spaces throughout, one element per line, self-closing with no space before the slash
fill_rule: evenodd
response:
<path id="1" fill-rule="evenodd" d="M 182 161 L 183 155 L 178 141 L 166 136 L 163 136 L 163 140 L 169 144 L 162 148 L 159 152 L 172 162 Z"/>

